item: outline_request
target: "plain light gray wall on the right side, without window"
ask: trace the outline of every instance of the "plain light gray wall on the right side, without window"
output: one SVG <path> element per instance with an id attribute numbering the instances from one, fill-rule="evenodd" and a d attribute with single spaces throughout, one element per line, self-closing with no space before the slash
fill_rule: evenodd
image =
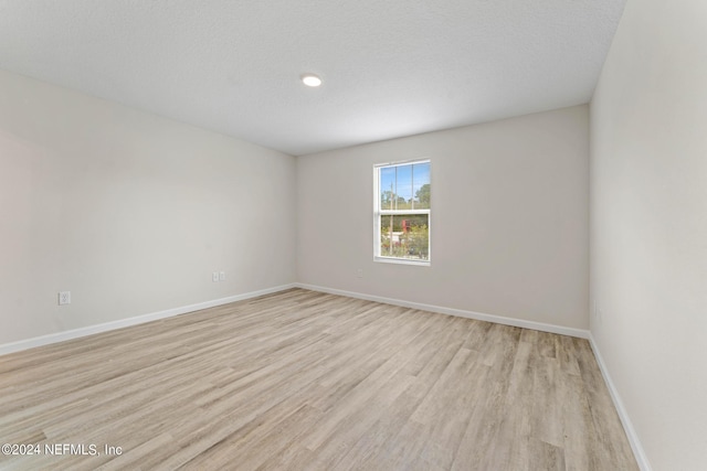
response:
<path id="1" fill-rule="evenodd" d="M 591 103 L 591 331 L 655 470 L 707 460 L 706 19 L 630 0 Z"/>

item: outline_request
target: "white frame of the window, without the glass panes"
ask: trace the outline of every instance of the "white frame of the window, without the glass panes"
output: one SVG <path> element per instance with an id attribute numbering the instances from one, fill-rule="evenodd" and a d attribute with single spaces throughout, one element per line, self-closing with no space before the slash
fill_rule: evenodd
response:
<path id="1" fill-rule="evenodd" d="M 430 163 L 430 190 L 432 190 L 432 164 L 430 159 L 414 159 L 397 162 L 376 163 L 373 165 L 373 261 L 382 261 L 387 264 L 416 265 L 429 267 L 432 260 L 432 199 L 430 200 L 430 208 L 426 210 L 382 210 L 380 207 L 380 170 L 390 167 L 403 167 L 415 163 Z M 414 195 L 413 195 L 414 197 Z M 428 215 L 428 259 L 415 260 L 411 258 L 390 257 L 380 254 L 380 218 L 384 215 L 404 216 L 408 214 L 426 214 Z"/>

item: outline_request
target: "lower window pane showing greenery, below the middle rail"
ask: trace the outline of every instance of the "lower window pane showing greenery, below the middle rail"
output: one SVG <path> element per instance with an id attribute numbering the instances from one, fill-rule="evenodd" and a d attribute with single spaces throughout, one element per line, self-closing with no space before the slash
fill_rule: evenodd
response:
<path id="1" fill-rule="evenodd" d="M 428 214 L 380 216 L 380 256 L 426 260 L 430 256 Z"/>

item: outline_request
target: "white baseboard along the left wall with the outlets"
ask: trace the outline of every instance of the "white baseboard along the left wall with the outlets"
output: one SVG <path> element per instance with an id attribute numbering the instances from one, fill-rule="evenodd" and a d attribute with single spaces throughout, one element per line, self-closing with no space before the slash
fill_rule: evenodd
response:
<path id="1" fill-rule="evenodd" d="M 119 319 L 117 321 L 105 322 L 102 324 L 87 325 L 85 328 L 51 333 L 48 335 L 35 336 L 32 339 L 21 340 L 12 343 L 6 343 L 3 345 L 0 345 L 0 355 L 6 355 L 8 353 L 19 352 L 28 349 L 34 349 L 35 346 L 64 342 L 66 340 L 78 339 L 81 336 L 93 335 L 95 333 L 107 332 L 115 329 L 123 329 L 130 325 L 137 325 L 145 322 L 156 321 L 158 319 L 171 318 L 173 315 L 184 314 L 187 312 L 199 311 L 201 309 L 213 308 L 215 306 L 221 306 L 221 304 L 228 304 L 229 302 L 242 301 L 244 299 L 256 298 L 258 296 L 270 295 L 277 291 L 284 291 L 291 288 L 295 288 L 295 285 L 291 283 L 291 285 L 276 286 L 274 288 L 245 292 L 243 295 L 230 296 L 228 298 L 198 302 L 196 304 L 182 306 L 180 308 L 167 309 L 165 311 L 152 312 L 149 314 L 137 315 L 134 318 Z"/>

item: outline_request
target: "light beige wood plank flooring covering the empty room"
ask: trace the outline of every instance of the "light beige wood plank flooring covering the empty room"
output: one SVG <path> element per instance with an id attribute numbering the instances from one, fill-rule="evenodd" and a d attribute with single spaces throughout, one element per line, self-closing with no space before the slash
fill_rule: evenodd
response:
<path id="1" fill-rule="evenodd" d="M 587 341 L 303 289 L 0 356 L 0 443 L 40 446 L 13 470 L 637 469 Z"/>

